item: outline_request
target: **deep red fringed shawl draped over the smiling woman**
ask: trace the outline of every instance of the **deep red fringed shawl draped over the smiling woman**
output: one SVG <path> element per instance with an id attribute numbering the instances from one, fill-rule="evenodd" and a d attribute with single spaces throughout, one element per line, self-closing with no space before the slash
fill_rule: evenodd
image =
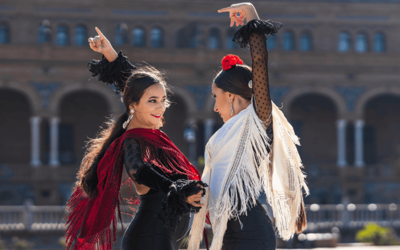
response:
<path id="1" fill-rule="evenodd" d="M 111 143 L 98 163 L 96 197 L 89 198 L 76 186 L 66 203 L 66 249 L 71 246 L 79 228 L 74 250 L 112 249 L 116 241 L 117 216 L 121 221 L 119 190 L 123 173 L 122 143 L 126 138 L 137 139 L 143 161 L 159 167 L 167 175 L 179 173 L 186 174 L 189 179 L 201 179 L 197 169 L 162 131 L 146 128 L 127 130 Z"/>

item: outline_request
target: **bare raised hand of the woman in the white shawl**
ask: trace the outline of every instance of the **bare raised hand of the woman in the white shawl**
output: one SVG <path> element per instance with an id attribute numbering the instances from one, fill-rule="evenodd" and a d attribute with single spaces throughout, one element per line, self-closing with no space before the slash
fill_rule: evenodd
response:
<path id="1" fill-rule="evenodd" d="M 229 12 L 230 26 L 233 26 L 234 22 L 236 22 L 236 26 L 239 26 L 239 24 L 244 25 L 244 18 L 246 18 L 247 22 L 259 19 L 257 11 L 255 11 L 254 6 L 249 2 L 232 4 L 230 7 L 219 9 L 218 12 Z M 237 12 L 239 12 L 240 16 L 236 15 Z"/>

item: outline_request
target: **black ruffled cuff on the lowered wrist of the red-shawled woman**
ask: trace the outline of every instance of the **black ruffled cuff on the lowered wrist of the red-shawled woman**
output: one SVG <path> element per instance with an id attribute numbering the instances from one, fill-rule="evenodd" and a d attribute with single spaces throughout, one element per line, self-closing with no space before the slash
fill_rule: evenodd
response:
<path id="1" fill-rule="evenodd" d="M 205 188 L 200 188 L 197 184 L 207 187 L 208 185 L 200 180 L 179 179 L 169 186 L 169 192 L 161 201 L 161 210 L 157 217 L 165 227 L 176 228 L 183 215 L 197 213 L 201 206 L 193 206 L 185 201 L 185 197 L 198 193 L 201 189 L 205 195 Z"/>

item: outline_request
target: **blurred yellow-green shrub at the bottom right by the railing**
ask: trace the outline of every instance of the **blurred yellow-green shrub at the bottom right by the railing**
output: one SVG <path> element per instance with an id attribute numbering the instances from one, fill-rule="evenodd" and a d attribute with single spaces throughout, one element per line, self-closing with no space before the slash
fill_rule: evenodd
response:
<path id="1" fill-rule="evenodd" d="M 375 223 L 369 223 L 355 234 L 355 239 L 363 243 L 374 245 L 400 245 L 400 240 L 390 227 L 383 227 Z"/>

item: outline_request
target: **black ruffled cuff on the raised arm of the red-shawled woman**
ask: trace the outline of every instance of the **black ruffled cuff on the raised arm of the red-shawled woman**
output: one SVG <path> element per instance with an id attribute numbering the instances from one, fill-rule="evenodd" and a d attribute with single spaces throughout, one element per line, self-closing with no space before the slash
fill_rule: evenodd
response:
<path id="1" fill-rule="evenodd" d="M 115 86 L 115 92 L 119 93 L 123 91 L 126 80 L 131 75 L 131 71 L 136 67 L 128 61 L 122 51 L 118 52 L 118 57 L 111 62 L 102 56 L 102 59 L 92 60 L 87 64 L 91 75 L 97 76 L 99 81 L 103 81 L 108 84 Z"/>

